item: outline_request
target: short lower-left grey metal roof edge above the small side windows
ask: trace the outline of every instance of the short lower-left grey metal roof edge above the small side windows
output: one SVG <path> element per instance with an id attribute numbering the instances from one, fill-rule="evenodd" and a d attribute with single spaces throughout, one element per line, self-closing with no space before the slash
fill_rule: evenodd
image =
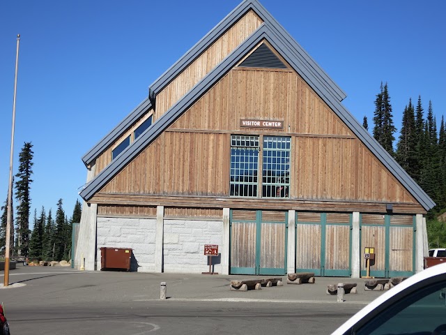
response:
<path id="1" fill-rule="evenodd" d="M 102 137 L 93 148 L 91 148 L 84 156 L 82 157 L 82 161 L 84 161 L 85 165 L 89 165 L 91 162 L 95 160 L 95 158 L 100 154 L 106 147 L 109 146 L 116 138 L 121 135 L 121 132 L 128 128 L 135 119 L 141 117 L 147 109 L 152 107 L 151 101 L 146 98 L 144 101 L 139 103 L 127 117 L 125 117 L 112 131 L 110 131 L 105 137 Z"/>

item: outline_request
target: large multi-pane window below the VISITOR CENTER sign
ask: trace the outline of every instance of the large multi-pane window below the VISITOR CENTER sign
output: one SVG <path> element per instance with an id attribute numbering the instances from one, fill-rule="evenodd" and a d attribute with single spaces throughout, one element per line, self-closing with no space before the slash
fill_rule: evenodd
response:
<path id="1" fill-rule="evenodd" d="M 289 198 L 291 137 L 262 140 L 261 145 L 260 136 L 231 136 L 231 196 Z"/>

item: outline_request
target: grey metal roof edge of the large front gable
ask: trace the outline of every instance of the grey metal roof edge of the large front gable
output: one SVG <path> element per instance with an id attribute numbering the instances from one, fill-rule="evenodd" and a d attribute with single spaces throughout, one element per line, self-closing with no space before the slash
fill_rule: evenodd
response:
<path id="1" fill-rule="evenodd" d="M 86 187 L 79 193 L 84 200 L 89 200 L 93 195 L 107 184 L 119 171 L 121 171 L 130 161 L 133 160 L 144 148 L 151 144 L 158 135 L 169 127 L 183 112 L 192 106 L 203 94 L 206 93 L 215 83 L 218 82 L 226 73 L 231 70 L 240 59 L 242 59 L 249 51 L 251 51 L 262 40 L 267 40 L 272 47 L 288 62 L 288 64 L 303 78 L 312 77 L 312 73 L 306 66 L 302 66 L 299 59 L 295 57 L 292 43 L 284 43 L 281 36 L 273 31 L 270 24 L 262 24 L 261 27 L 254 32 L 245 42 L 233 50 L 224 61 L 218 64 L 208 75 L 195 85 L 183 98 L 178 101 L 170 110 L 162 114 L 151 128 L 148 128 L 130 147 L 125 149 L 107 168 L 102 170 Z M 378 158 L 378 160 L 390 170 L 399 182 L 406 187 L 413 197 L 422 204 L 424 209 L 429 210 L 435 203 L 426 195 L 422 188 L 413 181 L 412 178 L 394 161 L 392 156 L 371 137 L 370 133 L 362 127 L 362 125 L 351 115 L 346 108 L 341 105 L 337 98 L 334 98 L 330 92 L 317 80 L 307 82 L 316 94 L 318 94 L 325 103 L 344 121 L 346 126 L 364 143 L 364 145 Z"/>

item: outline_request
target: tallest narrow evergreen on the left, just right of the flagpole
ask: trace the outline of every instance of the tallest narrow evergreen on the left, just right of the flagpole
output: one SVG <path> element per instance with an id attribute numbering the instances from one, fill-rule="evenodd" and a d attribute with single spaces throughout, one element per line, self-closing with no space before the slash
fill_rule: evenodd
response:
<path id="1" fill-rule="evenodd" d="M 31 174 L 33 173 L 33 144 L 25 142 L 19 155 L 19 172 L 15 175 L 15 198 L 19 203 L 17 206 L 17 253 L 28 256 L 29 253 L 29 211 L 31 209 Z"/>

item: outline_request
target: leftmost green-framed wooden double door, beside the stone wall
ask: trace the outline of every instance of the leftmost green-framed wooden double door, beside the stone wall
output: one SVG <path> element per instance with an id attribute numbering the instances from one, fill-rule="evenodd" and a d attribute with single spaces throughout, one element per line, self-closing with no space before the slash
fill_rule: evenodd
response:
<path id="1" fill-rule="evenodd" d="M 231 210 L 231 274 L 286 274 L 287 222 L 287 212 Z"/>

